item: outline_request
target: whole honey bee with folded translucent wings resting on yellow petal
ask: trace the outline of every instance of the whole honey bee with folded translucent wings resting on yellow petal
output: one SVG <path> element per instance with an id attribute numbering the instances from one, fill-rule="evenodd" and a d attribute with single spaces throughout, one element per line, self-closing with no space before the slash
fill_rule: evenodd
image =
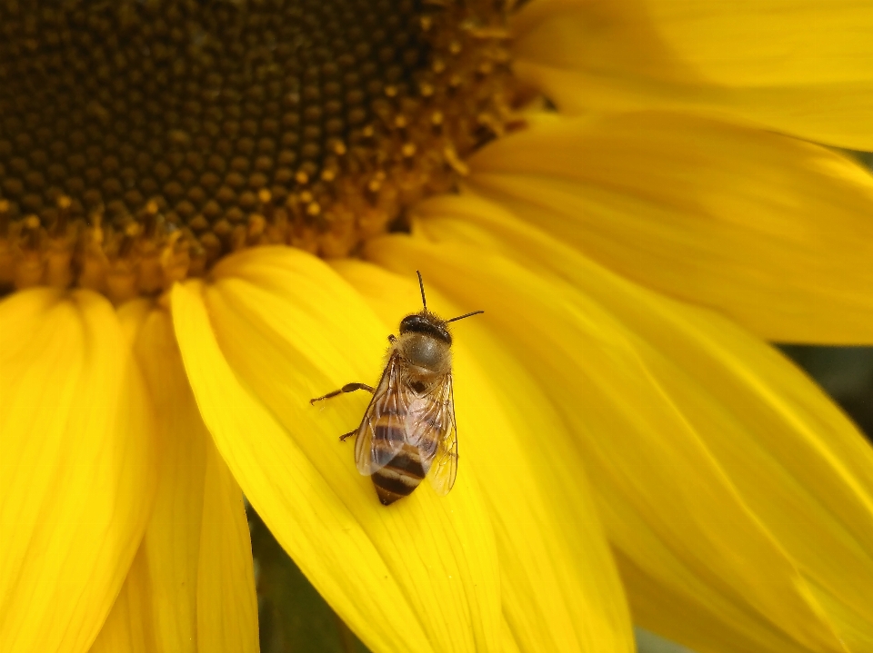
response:
<path id="1" fill-rule="evenodd" d="M 418 274 L 422 311 L 400 321 L 400 336 L 388 336 L 385 371 L 376 388 L 347 383 L 309 400 L 310 404 L 345 392 L 366 390 L 373 399 L 354 435 L 357 470 L 369 476 L 383 505 L 403 499 L 428 477 L 446 495 L 457 476 L 457 425 L 452 395 L 452 336 L 449 322 L 484 311 L 443 320 L 427 310 L 425 283 Z"/>

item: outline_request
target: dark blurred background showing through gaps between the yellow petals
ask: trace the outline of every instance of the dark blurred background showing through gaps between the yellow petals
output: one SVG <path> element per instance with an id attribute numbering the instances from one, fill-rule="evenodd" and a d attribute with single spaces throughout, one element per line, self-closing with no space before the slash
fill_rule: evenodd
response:
<path id="1" fill-rule="evenodd" d="M 873 347 L 782 346 L 873 442 Z M 873 445 L 871 445 L 873 446 Z M 366 653 L 249 510 L 262 653 Z M 693 653 L 637 630 L 640 653 Z"/>

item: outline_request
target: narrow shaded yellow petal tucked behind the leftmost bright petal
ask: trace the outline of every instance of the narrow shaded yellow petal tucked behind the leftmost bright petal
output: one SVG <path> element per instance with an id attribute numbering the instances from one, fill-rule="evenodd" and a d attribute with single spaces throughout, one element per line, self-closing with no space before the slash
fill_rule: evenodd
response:
<path id="1" fill-rule="evenodd" d="M 119 318 L 154 397 L 161 474 L 145 538 L 95 649 L 125 650 L 129 640 L 137 650 L 142 630 L 147 650 L 256 651 L 242 493 L 197 411 L 169 313 L 138 301 Z"/>

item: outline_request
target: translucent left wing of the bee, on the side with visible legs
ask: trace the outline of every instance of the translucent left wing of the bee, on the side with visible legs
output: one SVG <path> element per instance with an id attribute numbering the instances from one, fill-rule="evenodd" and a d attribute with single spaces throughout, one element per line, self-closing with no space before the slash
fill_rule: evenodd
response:
<path id="1" fill-rule="evenodd" d="M 403 447 L 406 435 L 402 420 L 405 411 L 400 371 L 400 361 L 394 353 L 357 428 L 355 463 L 357 470 L 365 476 L 385 467 Z"/>

